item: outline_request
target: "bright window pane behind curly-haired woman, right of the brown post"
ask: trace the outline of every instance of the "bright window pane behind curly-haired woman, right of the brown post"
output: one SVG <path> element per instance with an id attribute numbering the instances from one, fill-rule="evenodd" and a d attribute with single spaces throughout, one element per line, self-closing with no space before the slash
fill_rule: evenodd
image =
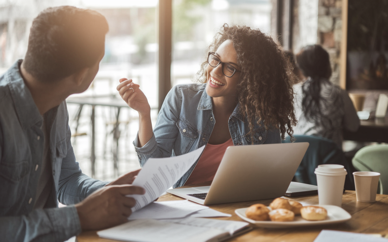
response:
<path id="1" fill-rule="evenodd" d="M 270 33 L 270 0 L 173 0 L 171 85 L 195 80 L 220 27 L 244 24 Z"/>

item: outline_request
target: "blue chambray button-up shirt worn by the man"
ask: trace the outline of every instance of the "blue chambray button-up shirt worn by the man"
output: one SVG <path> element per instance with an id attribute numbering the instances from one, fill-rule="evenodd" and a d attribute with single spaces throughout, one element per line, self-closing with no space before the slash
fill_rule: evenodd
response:
<path id="1" fill-rule="evenodd" d="M 33 209 L 43 161 L 43 117 L 24 84 L 17 61 L 0 77 L 0 240 L 64 241 L 81 232 L 74 206 L 106 185 L 81 173 L 70 142 L 66 102 L 47 115 L 52 191 Z M 58 200 L 67 206 L 57 208 Z"/>

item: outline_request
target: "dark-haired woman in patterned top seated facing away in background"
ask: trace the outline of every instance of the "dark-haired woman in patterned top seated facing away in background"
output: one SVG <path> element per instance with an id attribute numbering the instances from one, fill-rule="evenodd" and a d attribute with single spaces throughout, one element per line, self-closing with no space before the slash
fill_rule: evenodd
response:
<path id="1" fill-rule="evenodd" d="M 320 45 L 305 46 L 296 65 L 305 79 L 294 85 L 294 134 L 331 139 L 342 149 L 342 130 L 357 131 L 360 120 L 348 93 L 329 81 L 329 53 Z"/>

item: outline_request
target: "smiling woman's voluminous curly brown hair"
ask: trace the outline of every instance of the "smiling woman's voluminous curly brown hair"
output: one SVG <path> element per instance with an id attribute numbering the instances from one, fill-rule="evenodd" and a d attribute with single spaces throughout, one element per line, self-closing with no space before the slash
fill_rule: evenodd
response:
<path id="1" fill-rule="evenodd" d="M 292 126 L 297 122 L 292 88 L 295 76 L 288 58 L 279 45 L 259 29 L 227 24 L 215 35 L 209 51 L 217 50 L 227 39 L 233 43 L 242 71 L 237 98 L 239 111 L 245 113 L 251 135 L 256 122 L 266 129 L 280 129 L 282 139 L 286 132 L 293 138 Z M 197 81 L 206 82 L 207 65 L 207 61 L 201 65 Z"/>

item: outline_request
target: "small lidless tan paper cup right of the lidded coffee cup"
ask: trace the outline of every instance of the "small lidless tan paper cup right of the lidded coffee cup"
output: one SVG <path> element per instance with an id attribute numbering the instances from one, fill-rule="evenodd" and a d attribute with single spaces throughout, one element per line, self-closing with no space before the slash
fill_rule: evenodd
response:
<path id="1" fill-rule="evenodd" d="M 380 173 L 378 172 L 353 172 L 354 185 L 356 186 L 357 202 L 373 203 L 376 201 L 377 185 Z"/>

